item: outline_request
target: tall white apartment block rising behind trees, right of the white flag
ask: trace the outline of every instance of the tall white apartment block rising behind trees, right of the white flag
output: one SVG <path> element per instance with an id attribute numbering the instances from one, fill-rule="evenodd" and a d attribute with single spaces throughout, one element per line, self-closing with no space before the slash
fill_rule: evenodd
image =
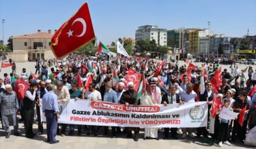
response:
<path id="1" fill-rule="evenodd" d="M 157 25 L 144 25 L 135 32 L 135 42 L 139 40 L 155 40 L 157 45 L 167 45 L 166 29 L 159 29 Z"/>

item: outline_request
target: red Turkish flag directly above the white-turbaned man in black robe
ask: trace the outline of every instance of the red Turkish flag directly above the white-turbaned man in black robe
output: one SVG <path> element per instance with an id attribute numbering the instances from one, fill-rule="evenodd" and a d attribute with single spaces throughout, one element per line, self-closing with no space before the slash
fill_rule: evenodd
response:
<path id="1" fill-rule="evenodd" d="M 125 80 L 126 82 L 133 82 L 134 83 L 134 90 L 138 91 L 138 87 L 140 86 L 140 73 L 137 71 L 134 71 L 133 69 L 129 69 L 129 72 L 127 73 Z M 125 85 L 125 89 L 127 90 L 127 86 Z"/>

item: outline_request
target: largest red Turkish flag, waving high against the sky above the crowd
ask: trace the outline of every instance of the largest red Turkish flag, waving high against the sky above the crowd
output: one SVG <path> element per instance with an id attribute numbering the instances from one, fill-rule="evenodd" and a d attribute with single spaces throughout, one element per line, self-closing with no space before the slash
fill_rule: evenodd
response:
<path id="1" fill-rule="evenodd" d="M 84 3 L 81 8 L 51 38 L 51 49 L 57 58 L 62 58 L 84 47 L 95 39 L 94 27 L 88 8 Z"/>

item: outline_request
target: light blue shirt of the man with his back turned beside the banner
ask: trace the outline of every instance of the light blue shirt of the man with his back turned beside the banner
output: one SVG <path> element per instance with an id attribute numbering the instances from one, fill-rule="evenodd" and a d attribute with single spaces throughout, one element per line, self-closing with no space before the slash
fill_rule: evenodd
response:
<path id="1" fill-rule="evenodd" d="M 58 112 L 58 97 L 53 91 L 49 91 L 44 95 L 42 109 L 43 112 L 45 112 L 45 109 L 54 110 L 55 113 Z"/>

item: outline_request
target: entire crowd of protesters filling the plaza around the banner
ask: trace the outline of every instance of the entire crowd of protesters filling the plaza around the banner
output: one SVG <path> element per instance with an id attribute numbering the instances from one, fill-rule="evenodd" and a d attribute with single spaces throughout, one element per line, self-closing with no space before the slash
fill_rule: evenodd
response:
<path id="1" fill-rule="evenodd" d="M 49 143 L 58 143 L 55 139 L 56 134 L 62 137 L 74 135 L 75 128 L 77 128 L 77 135 L 86 132 L 86 136 L 97 136 L 99 133 L 103 133 L 103 135 L 116 137 L 123 131 L 127 138 L 133 137 L 134 141 L 138 141 L 140 128 L 111 127 L 110 133 L 108 126 L 101 129 L 101 126 L 57 124 L 59 111 L 56 104 L 69 102 L 71 98 L 75 100 L 101 100 L 125 104 L 125 106 L 153 104 L 167 106 L 168 104 L 186 104 L 186 102 L 207 102 L 208 110 L 211 111 L 212 100 L 216 96 L 225 108 L 243 114 L 242 124 L 239 123 L 239 119 L 220 119 L 218 117 L 218 113 L 222 110 L 220 108 L 214 119 L 211 117 L 211 112 L 208 112 L 207 127 L 164 128 L 163 139 L 169 139 L 169 134 L 173 139 L 179 139 L 178 133 L 182 133 L 182 139 L 204 137 L 216 141 L 220 146 L 222 143 L 227 145 L 238 141 L 244 143 L 246 132 L 256 125 L 256 95 L 253 92 L 253 96 L 248 96 L 256 84 L 256 70 L 254 72 L 252 67 L 249 67 L 249 79 L 246 80 L 242 76 L 246 74 L 244 70 L 240 71 L 235 63 L 232 63 L 230 73 L 227 69 L 222 72 L 222 82 L 220 87 L 216 89 L 218 91 L 216 93 L 212 86 L 211 77 L 214 76 L 215 71 L 220 69 L 220 65 L 203 63 L 197 69 L 192 69 L 191 75 L 183 75 L 181 78 L 181 75 L 187 71 L 188 63 L 186 65 L 179 65 L 178 61 L 164 63 L 164 65 L 161 63 L 153 59 L 136 56 L 133 58 L 107 58 L 70 55 L 62 60 L 37 60 L 35 74 L 38 73 L 38 78 L 34 79 L 32 75 L 26 72 L 25 68 L 19 74 L 21 80 L 30 84 L 23 99 L 17 98 L 14 92 L 18 76 L 14 75 L 16 71 L 12 69 L 11 78 L 8 78 L 8 74 L 4 75 L 4 79 L 0 78 L 1 124 L 6 132 L 6 138 L 10 137 L 9 125 L 10 119 L 12 119 L 14 135 L 20 135 L 18 121 L 24 122 L 27 138 L 47 133 L 47 142 Z M 161 67 L 160 71 L 159 67 Z M 145 75 L 148 84 L 146 93 L 138 101 L 136 100 L 137 91 L 134 90 L 134 82 L 127 82 L 125 78 L 129 69 Z M 117 84 L 113 80 L 114 71 L 118 72 L 119 82 Z M 88 91 L 79 87 L 78 75 L 81 76 L 84 85 L 88 77 L 92 76 Z M 231 84 L 234 81 L 235 84 Z M 244 82 L 246 82 L 246 86 L 244 86 Z M 40 98 L 43 99 L 43 103 L 39 102 Z M 51 104 L 52 101 L 55 101 L 55 104 Z M 47 117 L 46 132 L 40 118 L 41 106 L 43 106 L 43 111 Z M 242 112 L 244 108 L 245 111 Z M 21 119 L 16 120 L 19 113 Z M 238 117 L 240 117 L 239 115 Z M 34 120 L 38 124 L 37 134 L 32 130 Z M 68 132 L 67 128 L 69 128 Z M 145 128 L 143 139 L 159 140 L 160 129 Z M 134 131 L 134 136 L 132 131 Z"/>

